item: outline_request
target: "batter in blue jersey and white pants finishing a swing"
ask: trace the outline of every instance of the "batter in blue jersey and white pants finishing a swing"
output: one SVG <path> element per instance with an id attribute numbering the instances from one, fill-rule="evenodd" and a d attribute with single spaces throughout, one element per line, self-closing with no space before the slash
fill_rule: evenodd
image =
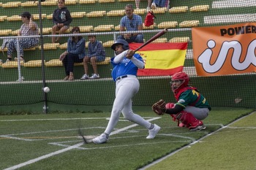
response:
<path id="1" fill-rule="evenodd" d="M 154 139 L 160 127 L 149 123 L 132 111 L 132 97 L 138 93 L 140 88 L 140 83 L 136 77 L 138 68 L 144 69 L 143 58 L 139 54 L 135 54 L 134 50 L 129 50 L 129 44 L 124 39 L 117 39 L 111 48 L 116 53 L 116 56 L 111 58 L 113 65 L 111 74 L 116 82 L 116 98 L 113 102 L 110 120 L 105 132 L 92 139 L 92 141 L 95 144 L 107 142 L 108 136 L 118 123 L 120 113 L 124 115 L 125 119 L 148 128 L 146 139 Z"/>

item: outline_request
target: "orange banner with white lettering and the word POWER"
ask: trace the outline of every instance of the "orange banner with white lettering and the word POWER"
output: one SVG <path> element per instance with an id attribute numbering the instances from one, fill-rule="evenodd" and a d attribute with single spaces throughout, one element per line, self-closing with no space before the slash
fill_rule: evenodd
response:
<path id="1" fill-rule="evenodd" d="M 256 72 L 256 23 L 192 28 L 193 55 L 199 76 Z"/>

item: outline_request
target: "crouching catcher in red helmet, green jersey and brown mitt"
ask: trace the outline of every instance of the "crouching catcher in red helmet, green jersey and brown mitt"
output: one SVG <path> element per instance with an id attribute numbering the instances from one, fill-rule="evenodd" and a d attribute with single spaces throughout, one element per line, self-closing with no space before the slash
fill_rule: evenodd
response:
<path id="1" fill-rule="evenodd" d="M 152 109 L 157 115 L 169 114 L 173 121 L 178 121 L 180 127 L 187 127 L 190 131 L 201 131 L 206 129 L 201 120 L 208 116 L 211 107 L 197 88 L 188 84 L 189 76 L 185 72 L 173 74 L 170 85 L 177 103 L 165 104 L 161 99 L 153 104 Z"/>

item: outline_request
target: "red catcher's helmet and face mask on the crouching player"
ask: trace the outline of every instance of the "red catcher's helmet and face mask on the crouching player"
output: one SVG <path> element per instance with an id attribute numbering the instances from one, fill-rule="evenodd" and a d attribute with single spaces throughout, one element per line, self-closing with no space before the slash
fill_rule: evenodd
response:
<path id="1" fill-rule="evenodd" d="M 179 85 L 178 87 L 174 87 L 173 86 L 174 81 L 181 82 L 181 85 Z M 184 72 L 177 72 L 177 73 L 173 74 L 171 82 L 170 82 L 172 90 L 179 90 L 181 88 L 186 87 L 188 84 L 189 84 L 189 76 Z"/>

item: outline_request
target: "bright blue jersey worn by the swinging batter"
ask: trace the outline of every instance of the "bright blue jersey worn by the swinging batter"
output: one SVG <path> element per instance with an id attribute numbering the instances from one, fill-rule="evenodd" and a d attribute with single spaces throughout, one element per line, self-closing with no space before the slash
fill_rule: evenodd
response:
<path id="1" fill-rule="evenodd" d="M 143 58 L 139 54 L 135 54 L 133 56 L 135 58 L 137 58 L 139 61 L 143 61 Z M 124 57 L 124 59 L 120 63 L 114 63 L 113 59 L 114 59 L 114 57 L 111 58 L 111 64 L 113 66 L 111 75 L 112 75 L 114 81 L 116 81 L 117 77 L 124 76 L 127 74 L 137 76 L 138 67 L 135 66 L 135 64 L 132 63 L 131 60 Z"/>

